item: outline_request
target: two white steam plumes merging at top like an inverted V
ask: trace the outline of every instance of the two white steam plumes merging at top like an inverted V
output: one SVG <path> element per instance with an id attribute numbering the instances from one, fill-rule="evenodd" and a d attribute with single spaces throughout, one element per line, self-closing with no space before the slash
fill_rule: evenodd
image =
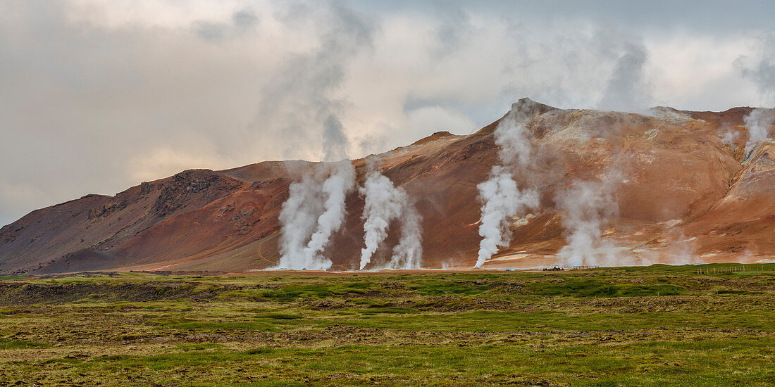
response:
<path id="1" fill-rule="evenodd" d="M 389 264 L 392 269 L 418 269 L 422 246 L 419 214 L 409 203 L 406 191 L 395 187 L 387 176 L 374 171 L 369 174 L 360 194 L 365 197 L 363 207 L 363 241 L 360 251 L 360 269 L 371 262 L 382 241 L 387 238 L 387 228 L 392 221 L 401 218 L 401 241 L 394 248 Z"/>

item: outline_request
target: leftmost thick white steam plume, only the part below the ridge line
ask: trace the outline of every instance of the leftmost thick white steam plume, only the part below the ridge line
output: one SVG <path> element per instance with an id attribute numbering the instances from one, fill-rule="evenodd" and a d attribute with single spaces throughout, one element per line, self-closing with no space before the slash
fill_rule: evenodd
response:
<path id="1" fill-rule="evenodd" d="M 353 165 L 349 160 L 334 163 L 329 176 L 321 180 L 321 174 L 316 174 L 291 184 L 280 213 L 282 256 L 277 269 L 327 270 L 332 265 L 321 253 L 342 227 L 345 198 L 355 180 Z"/>

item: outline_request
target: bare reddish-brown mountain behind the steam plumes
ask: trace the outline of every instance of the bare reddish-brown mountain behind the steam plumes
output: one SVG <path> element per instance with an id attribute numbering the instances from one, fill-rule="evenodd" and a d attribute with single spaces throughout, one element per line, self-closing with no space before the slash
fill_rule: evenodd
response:
<path id="1" fill-rule="evenodd" d="M 509 220 L 511 242 L 485 268 L 562 265 L 569 249 L 585 248 L 602 265 L 770 262 L 775 143 L 764 140 L 746 155 L 753 110 L 637 115 L 523 98 L 471 135 L 439 132 L 377 155 L 378 169 L 415 200 L 423 267 L 473 267 L 481 239 L 477 184 L 499 163 L 495 129 L 518 111 L 528 118 L 532 159 L 513 168 L 515 181 L 535 189 L 540 206 Z M 0 229 L 0 271 L 265 269 L 281 255 L 278 216 L 291 183 L 319 164 L 186 170 L 112 197 L 33 211 Z M 357 185 L 367 164 L 353 160 Z M 332 269 L 357 269 L 363 207 L 358 190 L 347 195 L 343 227 L 324 252 Z M 391 232 L 373 261 L 388 259 L 396 243 Z"/>

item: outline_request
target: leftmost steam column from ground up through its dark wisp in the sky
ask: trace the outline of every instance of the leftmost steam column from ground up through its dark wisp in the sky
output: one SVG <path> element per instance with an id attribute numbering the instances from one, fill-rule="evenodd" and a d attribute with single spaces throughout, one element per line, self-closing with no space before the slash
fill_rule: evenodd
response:
<path id="1" fill-rule="evenodd" d="M 337 15 L 348 20 L 345 26 L 352 27 L 353 39 L 367 40 L 368 30 L 359 20 L 350 15 L 349 11 L 342 9 L 337 12 Z M 290 195 L 283 204 L 280 214 L 282 256 L 277 262 L 277 269 L 328 270 L 332 265 L 330 259 L 322 256 L 322 252 L 329 244 L 331 235 L 342 227 L 346 213 L 345 199 L 347 194 L 353 190 L 355 170 L 350 160 L 346 159 L 349 140 L 342 122 L 336 116 L 338 104 L 327 98 L 325 91 L 342 81 L 342 70 L 339 68 L 341 60 L 338 56 L 343 55 L 343 53 L 339 53 L 339 50 L 350 53 L 349 49 L 352 48 L 350 46 L 357 45 L 337 42 L 328 36 L 324 39 L 321 51 L 315 56 L 314 63 L 319 65 L 316 66 L 317 70 L 334 75 L 315 77 L 315 80 L 318 81 L 310 82 L 314 85 L 309 89 L 309 91 L 314 91 L 311 94 L 312 100 L 314 100 L 313 105 L 317 106 L 313 121 L 323 122 L 322 147 L 325 161 L 342 161 L 322 167 L 323 173 L 329 173 L 325 181 L 321 181 L 322 174 L 319 170 L 315 176 L 305 176 L 301 182 L 291 184 Z M 298 57 L 293 64 L 300 67 L 296 69 L 300 74 L 307 74 L 309 72 L 307 65 L 311 61 L 310 58 Z M 300 77 L 299 74 L 293 73 L 294 66 L 288 67 L 288 71 L 291 71 L 291 77 L 288 78 Z M 284 82 L 287 81 L 288 79 L 284 79 Z M 291 84 L 304 84 L 304 82 L 293 80 Z M 282 93 L 278 96 L 283 97 L 279 98 L 280 101 L 293 99 Z M 275 101 L 274 103 L 280 102 Z M 299 102 L 296 101 L 296 103 Z M 278 108 L 278 106 L 274 106 L 274 108 Z M 293 131 L 291 130 L 291 132 Z M 307 141 L 307 143 L 311 142 Z M 325 171 L 325 169 L 329 169 L 329 171 Z"/>

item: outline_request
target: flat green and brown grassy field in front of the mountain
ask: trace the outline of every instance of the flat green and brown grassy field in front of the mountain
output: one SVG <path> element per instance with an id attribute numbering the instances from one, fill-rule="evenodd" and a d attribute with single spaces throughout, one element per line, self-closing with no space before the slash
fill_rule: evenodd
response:
<path id="1" fill-rule="evenodd" d="M 0 385 L 775 385 L 729 266 L 2 277 Z"/>

